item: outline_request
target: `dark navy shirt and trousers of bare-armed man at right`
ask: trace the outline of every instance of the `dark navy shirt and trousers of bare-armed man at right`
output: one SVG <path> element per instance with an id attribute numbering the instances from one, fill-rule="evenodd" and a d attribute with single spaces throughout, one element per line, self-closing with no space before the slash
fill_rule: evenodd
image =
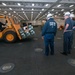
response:
<path id="1" fill-rule="evenodd" d="M 66 31 L 64 32 L 64 53 L 70 53 L 72 48 L 73 41 L 73 20 L 70 18 L 65 20 L 65 26 L 69 25 Z"/>

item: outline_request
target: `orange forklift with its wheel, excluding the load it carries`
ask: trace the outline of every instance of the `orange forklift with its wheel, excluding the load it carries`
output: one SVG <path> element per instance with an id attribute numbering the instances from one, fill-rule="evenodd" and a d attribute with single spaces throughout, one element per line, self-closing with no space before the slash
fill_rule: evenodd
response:
<path id="1" fill-rule="evenodd" d="M 0 39 L 4 40 L 5 42 L 15 42 L 17 37 L 21 40 L 21 36 L 18 32 L 20 29 L 20 24 L 16 24 L 12 17 L 8 16 L 0 16 L 0 20 L 5 26 L 2 27 L 0 31 Z"/>

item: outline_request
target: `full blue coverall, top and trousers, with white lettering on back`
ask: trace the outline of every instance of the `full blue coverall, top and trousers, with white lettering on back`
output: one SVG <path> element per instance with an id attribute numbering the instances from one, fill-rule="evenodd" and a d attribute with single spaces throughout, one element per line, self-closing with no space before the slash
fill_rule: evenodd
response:
<path id="1" fill-rule="evenodd" d="M 45 42 L 45 55 L 49 55 L 49 47 L 51 48 L 51 55 L 54 54 L 54 36 L 57 31 L 57 23 L 53 18 L 50 18 L 42 29 L 42 36 Z"/>

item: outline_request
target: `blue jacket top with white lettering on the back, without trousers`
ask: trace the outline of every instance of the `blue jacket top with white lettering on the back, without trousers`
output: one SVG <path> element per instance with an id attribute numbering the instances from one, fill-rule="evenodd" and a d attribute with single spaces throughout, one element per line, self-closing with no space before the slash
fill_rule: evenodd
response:
<path id="1" fill-rule="evenodd" d="M 53 18 L 50 18 L 43 27 L 42 36 L 45 35 L 51 37 L 51 35 L 56 35 L 56 31 L 57 31 L 57 23 L 54 21 Z"/>

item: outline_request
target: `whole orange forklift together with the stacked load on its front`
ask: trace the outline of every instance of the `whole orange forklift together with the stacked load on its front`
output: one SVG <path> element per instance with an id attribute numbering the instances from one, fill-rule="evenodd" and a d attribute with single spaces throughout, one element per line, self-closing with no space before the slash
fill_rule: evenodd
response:
<path id="1" fill-rule="evenodd" d="M 0 31 L 0 39 L 3 39 L 5 42 L 12 43 L 15 42 L 17 38 L 22 40 L 35 34 L 32 26 L 24 30 L 20 23 L 15 23 L 13 17 L 0 16 L 0 19 L 2 18 L 6 21 L 6 27 L 3 31 Z"/>

